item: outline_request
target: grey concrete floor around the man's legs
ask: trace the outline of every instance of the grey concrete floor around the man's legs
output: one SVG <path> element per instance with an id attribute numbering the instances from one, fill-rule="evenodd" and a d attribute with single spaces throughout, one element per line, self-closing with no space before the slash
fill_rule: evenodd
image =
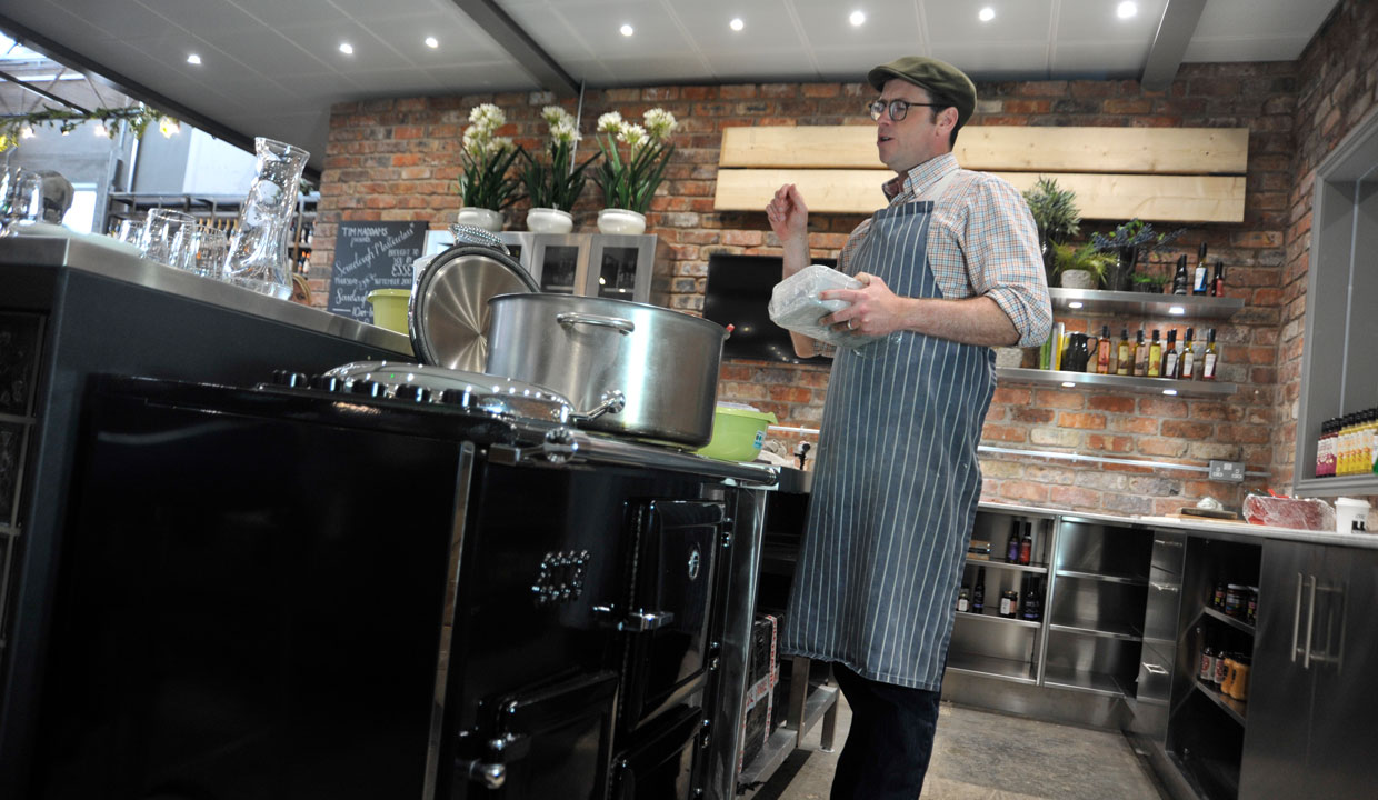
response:
<path id="1" fill-rule="evenodd" d="M 852 712 L 839 698 L 835 752 L 819 727 L 747 800 L 827 800 Z M 821 727 L 821 726 L 820 726 Z M 1123 735 L 944 702 L 923 800 L 1162 800 L 1166 792 Z"/>

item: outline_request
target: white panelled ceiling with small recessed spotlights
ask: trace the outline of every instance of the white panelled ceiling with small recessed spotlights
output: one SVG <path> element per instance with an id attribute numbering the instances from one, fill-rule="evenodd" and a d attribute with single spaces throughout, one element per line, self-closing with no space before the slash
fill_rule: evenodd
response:
<path id="1" fill-rule="evenodd" d="M 491 36 L 460 6 L 496 6 L 575 85 L 601 88 L 854 81 L 907 54 L 976 80 L 1137 78 L 1169 3 L 1200 1 L 1185 62 L 1293 61 L 1337 0 L 1138 0 L 1127 21 L 1119 0 L 0 0 L 0 29 L 243 136 L 300 145 L 320 165 L 340 101 L 557 88 L 499 44 L 508 32 Z M 985 6 L 991 22 L 977 19 Z"/>

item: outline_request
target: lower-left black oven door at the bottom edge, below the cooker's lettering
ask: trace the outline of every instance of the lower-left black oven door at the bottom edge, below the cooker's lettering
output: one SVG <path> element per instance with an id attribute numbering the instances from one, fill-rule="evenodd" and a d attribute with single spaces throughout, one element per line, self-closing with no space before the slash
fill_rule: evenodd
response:
<path id="1" fill-rule="evenodd" d="M 602 671 L 484 702 L 448 796 L 602 800 L 616 697 L 617 673 Z"/>

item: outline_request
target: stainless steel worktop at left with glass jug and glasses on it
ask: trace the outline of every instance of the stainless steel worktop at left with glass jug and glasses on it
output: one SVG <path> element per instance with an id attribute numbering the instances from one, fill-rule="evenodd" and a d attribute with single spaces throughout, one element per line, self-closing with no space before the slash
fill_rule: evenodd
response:
<path id="1" fill-rule="evenodd" d="M 230 308 L 263 319 L 271 319 L 296 328 L 353 339 L 356 341 L 391 350 L 411 352 L 411 340 L 401 333 L 365 325 L 339 314 L 302 306 L 259 295 L 223 281 L 203 278 L 192 273 L 165 267 L 130 253 L 117 242 L 105 245 L 79 237 L 15 235 L 0 240 L 0 266 L 69 269 L 101 275 L 125 284 L 135 284 L 160 292 L 168 292 Z"/>

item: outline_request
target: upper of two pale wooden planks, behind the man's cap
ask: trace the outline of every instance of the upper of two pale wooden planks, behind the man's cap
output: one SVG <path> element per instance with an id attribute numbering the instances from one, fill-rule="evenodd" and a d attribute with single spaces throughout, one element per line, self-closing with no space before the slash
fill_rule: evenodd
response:
<path id="1" fill-rule="evenodd" d="M 958 136 L 967 169 L 1243 175 L 1248 128 L 1058 128 L 973 125 Z M 879 167 L 874 125 L 728 128 L 719 167 Z"/>

